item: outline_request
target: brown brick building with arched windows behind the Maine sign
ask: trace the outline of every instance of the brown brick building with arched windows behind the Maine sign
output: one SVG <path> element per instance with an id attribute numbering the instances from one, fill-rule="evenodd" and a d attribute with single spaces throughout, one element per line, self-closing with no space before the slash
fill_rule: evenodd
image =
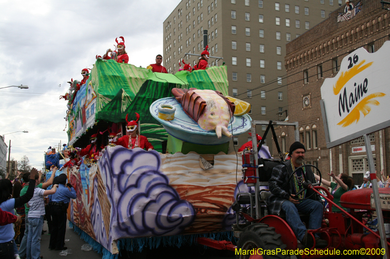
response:
<path id="1" fill-rule="evenodd" d="M 338 18 L 339 14 L 345 13 L 346 5 L 343 5 L 329 18 L 287 44 L 285 67 L 289 121 L 299 122 L 300 141 L 306 146 L 307 163 L 318 166 L 326 179 L 329 179 L 326 173 L 330 171 L 347 173 L 356 185 L 360 185 L 363 173 L 368 171 L 363 137 L 326 148 L 320 87 L 325 78 L 337 74 L 342 59 L 350 52 L 360 47 L 375 52 L 389 40 L 390 13 L 382 9 L 379 0 L 354 0 L 351 3 L 359 7 L 360 12 L 350 19 L 345 19 L 346 16 Z M 292 129 L 279 127 L 277 134 L 282 148 L 288 151 L 294 141 Z M 382 169 L 388 175 L 390 129 L 370 134 L 370 140 L 378 177 Z"/>

